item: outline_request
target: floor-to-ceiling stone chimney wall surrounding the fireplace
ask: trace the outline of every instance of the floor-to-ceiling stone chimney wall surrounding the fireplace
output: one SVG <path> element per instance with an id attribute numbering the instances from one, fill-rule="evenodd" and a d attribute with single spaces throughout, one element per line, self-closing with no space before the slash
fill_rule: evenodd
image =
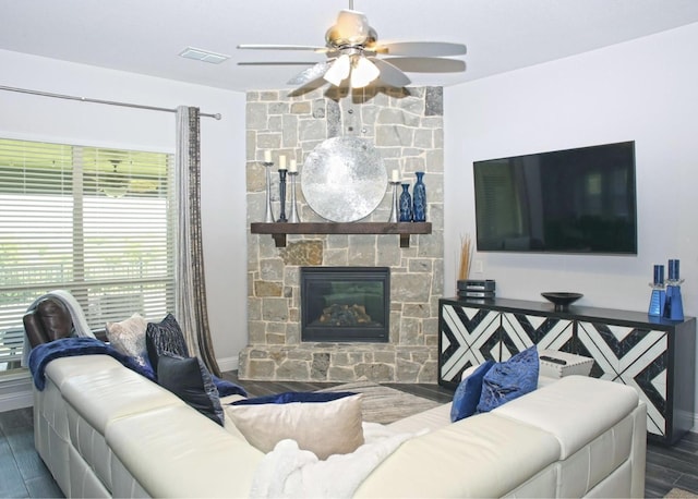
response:
<path id="1" fill-rule="evenodd" d="M 303 161 L 316 145 L 354 135 L 374 144 L 388 177 L 397 169 L 413 185 L 414 172 L 425 172 L 432 232 L 412 235 L 409 247 L 400 247 L 397 234 L 313 233 L 288 234 L 286 246 L 277 247 L 269 234 L 249 232 L 249 344 L 240 353 L 240 379 L 436 382 L 444 259 L 442 89 L 346 95 L 321 88 L 297 96 L 250 92 L 246 133 L 248 224 L 264 221 L 265 150 L 273 151 L 275 163 L 279 155 L 296 159 L 302 177 Z M 278 214 L 277 174 L 275 180 L 272 198 Z M 297 196 L 303 222 L 332 223 L 308 206 L 300 187 Z M 385 222 L 389 214 L 386 185 L 383 202 L 361 221 Z M 303 334 L 301 270 L 346 267 L 388 269 L 387 338 L 333 341 Z"/>

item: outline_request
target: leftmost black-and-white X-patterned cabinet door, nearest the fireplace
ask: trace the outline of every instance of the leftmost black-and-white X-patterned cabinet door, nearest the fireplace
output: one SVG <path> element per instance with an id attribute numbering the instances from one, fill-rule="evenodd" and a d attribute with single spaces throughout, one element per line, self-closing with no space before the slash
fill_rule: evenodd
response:
<path id="1" fill-rule="evenodd" d="M 471 365 L 500 360 L 500 313 L 443 305 L 441 309 L 440 379 L 459 382 Z"/>

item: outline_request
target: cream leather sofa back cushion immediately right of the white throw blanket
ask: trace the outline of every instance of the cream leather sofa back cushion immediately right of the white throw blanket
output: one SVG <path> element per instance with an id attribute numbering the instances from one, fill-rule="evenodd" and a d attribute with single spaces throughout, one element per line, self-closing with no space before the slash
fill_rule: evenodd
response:
<path id="1" fill-rule="evenodd" d="M 477 414 L 402 443 L 354 497 L 507 497 L 558 455 L 559 443 L 547 431 L 494 413 Z M 554 496 L 552 485 L 542 497 Z"/>

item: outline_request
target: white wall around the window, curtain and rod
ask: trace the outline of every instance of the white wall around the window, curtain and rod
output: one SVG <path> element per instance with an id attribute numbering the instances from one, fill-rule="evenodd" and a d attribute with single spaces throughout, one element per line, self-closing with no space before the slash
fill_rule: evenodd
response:
<path id="1" fill-rule="evenodd" d="M 0 50 L 0 85 L 176 108 L 202 118 L 202 224 L 208 318 L 221 368 L 237 368 L 248 343 L 245 95 Z M 0 90 L 0 136 L 174 151 L 173 113 Z"/>

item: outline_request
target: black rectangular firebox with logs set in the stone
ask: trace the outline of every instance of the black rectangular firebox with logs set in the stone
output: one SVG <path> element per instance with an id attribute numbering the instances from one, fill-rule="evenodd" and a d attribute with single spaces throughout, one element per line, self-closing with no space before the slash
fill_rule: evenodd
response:
<path id="1" fill-rule="evenodd" d="M 301 341 L 388 342 L 388 267 L 301 267 Z"/>

